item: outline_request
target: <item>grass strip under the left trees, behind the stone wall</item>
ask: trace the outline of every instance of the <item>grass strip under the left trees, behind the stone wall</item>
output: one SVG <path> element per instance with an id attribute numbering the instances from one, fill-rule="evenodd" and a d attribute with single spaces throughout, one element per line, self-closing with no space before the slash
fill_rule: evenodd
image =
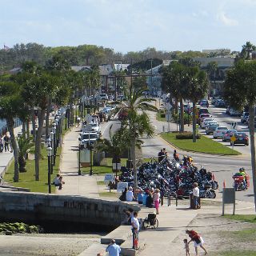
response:
<path id="1" fill-rule="evenodd" d="M 57 151 L 56 164 L 54 166 L 54 174 L 51 175 L 51 181 L 58 174 L 59 167 L 59 153 L 60 148 Z M 31 192 L 48 193 L 48 160 L 46 148 L 42 149 L 43 159 L 40 160 L 40 180 L 34 180 L 34 160 L 26 161 L 26 173 L 19 173 L 19 182 L 13 182 L 14 180 L 14 162 L 11 163 L 4 176 L 5 182 L 8 182 L 11 186 L 19 186 L 28 188 Z M 54 186 L 52 186 L 52 193 L 54 193 Z"/>

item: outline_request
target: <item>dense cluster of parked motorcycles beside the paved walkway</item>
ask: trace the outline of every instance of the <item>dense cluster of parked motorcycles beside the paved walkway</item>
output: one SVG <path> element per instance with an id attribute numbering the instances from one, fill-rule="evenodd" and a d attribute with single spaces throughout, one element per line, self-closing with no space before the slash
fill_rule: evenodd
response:
<path id="1" fill-rule="evenodd" d="M 128 186 L 133 186 L 132 170 L 122 167 L 119 181 L 128 182 Z M 151 159 L 150 162 L 138 167 L 138 187 L 144 191 L 158 188 L 164 197 L 171 195 L 177 198 L 188 198 L 194 182 L 198 183 L 200 198 L 216 197 L 214 190 L 218 189 L 218 182 L 214 180 L 214 175 L 207 172 L 205 168 L 198 170 L 187 161 L 186 157 L 182 162 L 176 162 L 170 158 L 164 158 L 162 162 Z"/>

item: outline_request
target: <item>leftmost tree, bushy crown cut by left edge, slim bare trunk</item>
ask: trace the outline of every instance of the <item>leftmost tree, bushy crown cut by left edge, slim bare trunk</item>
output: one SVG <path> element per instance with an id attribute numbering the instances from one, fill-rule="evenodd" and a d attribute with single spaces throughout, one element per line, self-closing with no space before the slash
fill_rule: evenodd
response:
<path id="1" fill-rule="evenodd" d="M 0 118 L 6 119 L 10 142 L 14 150 L 14 182 L 18 182 L 18 144 L 14 134 L 14 118 L 18 118 L 22 98 L 15 82 L 0 82 Z"/>

